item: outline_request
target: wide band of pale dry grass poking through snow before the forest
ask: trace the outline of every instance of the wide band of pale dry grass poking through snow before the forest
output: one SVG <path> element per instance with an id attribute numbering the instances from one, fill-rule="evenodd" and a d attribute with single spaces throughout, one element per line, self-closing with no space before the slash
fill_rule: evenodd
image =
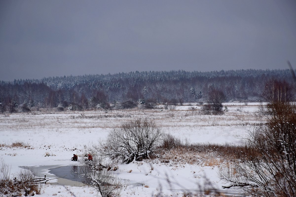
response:
<path id="1" fill-rule="evenodd" d="M 38 114 L 14 114 L 10 117 L 0 116 L 0 131 L 19 131 L 23 129 L 87 129 L 87 128 L 114 128 L 116 122 L 128 121 L 134 118 L 149 118 L 155 120 L 157 126 L 164 128 L 195 126 L 249 126 L 261 120 L 252 115 L 229 111 L 227 115 L 212 116 L 200 115 L 197 109 L 194 114 L 188 109 L 178 110 L 114 110 L 105 114 L 102 111 L 84 112 L 38 112 Z M 54 116 L 52 114 L 55 114 Z M 96 121 L 99 120 L 99 121 Z M 57 124 L 57 122 L 59 124 Z M 248 123 L 246 123 L 248 122 Z"/>

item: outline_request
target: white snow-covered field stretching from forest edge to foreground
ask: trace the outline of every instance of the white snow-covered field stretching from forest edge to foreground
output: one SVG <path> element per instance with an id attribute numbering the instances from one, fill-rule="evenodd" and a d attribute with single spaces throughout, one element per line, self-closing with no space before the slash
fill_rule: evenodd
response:
<path id="1" fill-rule="evenodd" d="M 199 106 L 177 106 L 173 110 L 119 110 L 86 112 L 31 112 L 0 115 L 0 158 L 11 166 L 11 176 L 21 166 L 66 166 L 75 165 L 70 160 L 73 154 L 82 158 L 86 153 L 84 145 L 91 146 L 104 140 L 108 132 L 121 123 L 137 118 L 151 118 L 166 133 L 190 142 L 235 143 L 242 140 L 251 125 L 263 120 L 255 118 L 253 112 L 258 103 L 243 105 L 242 115 L 237 110 L 239 103 L 227 103 L 229 112 L 221 116 L 197 115 L 190 108 Z M 88 118 L 86 118 L 88 117 Z M 17 147 L 20 142 L 26 146 Z M 199 185 L 209 185 L 226 195 L 235 195 L 230 189 L 222 189 L 217 176 L 217 165 L 205 163 L 188 164 L 134 162 L 118 164 L 118 177 L 129 180 L 122 196 L 152 196 L 161 193 L 167 196 L 182 196 L 184 190 L 198 192 Z M 153 167 L 154 170 L 151 170 Z M 38 168 L 36 168 L 38 169 Z M 48 169 L 39 168 L 38 174 L 52 176 Z M 57 180 L 53 180 L 55 182 Z M 39 196 L 96 196 L 97 193 L 86 186 L 46 184 Z M 78 185 L 78 184 L 77 184 Z M 145 187 L 145 185 L 149 187 Z"/>

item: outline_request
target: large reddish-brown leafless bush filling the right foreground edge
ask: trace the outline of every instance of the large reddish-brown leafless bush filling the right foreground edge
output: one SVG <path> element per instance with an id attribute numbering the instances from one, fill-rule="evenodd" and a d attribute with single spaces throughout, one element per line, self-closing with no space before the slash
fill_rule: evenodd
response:
<path id="1" fill-rule="evenodd" d="M 274 102 L 261 110 L 267 123 L 249 133 L 245 159 L 230 169 L 236 176 L 222 171 L 229 182 L 223 187 L 242 187 L 252 196 L 296 196 L 295 103 Z"/>

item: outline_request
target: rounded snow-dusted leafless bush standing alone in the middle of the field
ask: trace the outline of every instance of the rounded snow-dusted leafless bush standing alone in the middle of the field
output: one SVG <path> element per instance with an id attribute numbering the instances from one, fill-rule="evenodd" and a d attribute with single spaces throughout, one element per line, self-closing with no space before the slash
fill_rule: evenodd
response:
<path id="1" fill-rule="evenodd" d="M 126 122 L 108 134 L 103 154 L 111 158 L 120 157 L 126 163 L 149 158 L 161 143 L 162 136 L 163 132 L 152 120 Z"/>

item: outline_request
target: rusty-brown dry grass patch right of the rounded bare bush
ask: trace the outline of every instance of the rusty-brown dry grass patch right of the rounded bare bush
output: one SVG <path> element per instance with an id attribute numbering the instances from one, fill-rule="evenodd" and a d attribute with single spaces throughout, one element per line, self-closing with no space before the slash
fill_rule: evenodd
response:
<path id="1" fill-rule="evenodd" d="M 170 165 L 189 163 L 204 166 L 218 166 L 224 161 L 242 159 L 249 154 L 245 146 L 233 144 L 192 143 L 166 134 L 156 155 L 160 162 Z M 157 157 L 152 157 L 156 159 Z"/>

